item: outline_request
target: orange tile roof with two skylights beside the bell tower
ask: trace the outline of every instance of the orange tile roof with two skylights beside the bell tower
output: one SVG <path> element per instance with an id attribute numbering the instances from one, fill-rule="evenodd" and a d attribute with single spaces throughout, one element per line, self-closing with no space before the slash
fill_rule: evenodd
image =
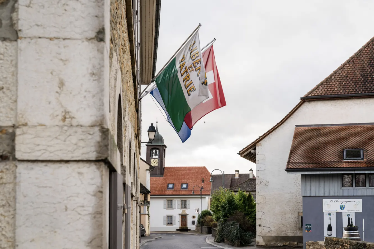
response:
<path id="1" fill-rule="evenodd" d="M 204 178 L 204 183 L 201 182 Z M 193 186 L 203 186 L 203 195 L 211 194 L 210 172 L 202 167 L 165 167 L 163 177 L 151 176 L 151 195 L 192 195 Z M 174 183 L 174 189 L 167 189 L 168 183 Z M 182 183 L 188 183 L 187 189 L 181 189 Z M 200 195 L 198 187 L 195 195 Z"/>

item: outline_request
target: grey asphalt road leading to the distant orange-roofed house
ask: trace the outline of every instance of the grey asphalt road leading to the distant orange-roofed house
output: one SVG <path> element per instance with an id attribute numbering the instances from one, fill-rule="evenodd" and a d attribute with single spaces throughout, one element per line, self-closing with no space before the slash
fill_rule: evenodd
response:
<path id="1" fill-rule="evenodd" d="M 150 240 L 141 246 L 141 249 L 208 249 L 218 248 L 206 243 L 206 235 L 152 233 L 162 236 L 160 239 Z"/>

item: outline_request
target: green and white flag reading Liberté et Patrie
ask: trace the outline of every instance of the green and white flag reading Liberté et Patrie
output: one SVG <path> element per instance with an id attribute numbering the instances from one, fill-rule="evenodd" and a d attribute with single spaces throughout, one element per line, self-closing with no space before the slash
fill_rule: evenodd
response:
<path id="1" fill-rule="evenodd" d="M 208 81 L 197 31 L 155 79 L 177 132 L 184 117 L 209 98 Z"/>

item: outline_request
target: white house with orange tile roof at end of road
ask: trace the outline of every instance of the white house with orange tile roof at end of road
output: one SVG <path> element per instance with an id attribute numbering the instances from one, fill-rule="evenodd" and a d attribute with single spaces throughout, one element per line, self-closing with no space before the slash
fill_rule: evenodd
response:
<path id="1" fill-rule="evenodd" d="M 180 226 L 195 230 L 197 211 L 209 206 L 209 179 L 205 166 L 164 167 L 163 175 L 151 175 L 150 231 L 176 231 Z"/>

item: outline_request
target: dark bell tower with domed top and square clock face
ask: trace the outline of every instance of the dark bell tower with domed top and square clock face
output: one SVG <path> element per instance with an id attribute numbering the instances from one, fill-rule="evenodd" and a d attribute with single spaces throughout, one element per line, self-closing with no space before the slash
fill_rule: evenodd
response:
<path id="1" fill-rule="evenodd" d="M 163 169 L 165 167 L 165 152 L 166 145 L 163 141 L 163 137 L 159 133 L 159 129 L 156 121 L 156 134 L 154 135 L 153 141 L 148 141 L 147 146 L 147 162 L 154 167 L 151 171 L 151 175 L 163 175 Z"/>

